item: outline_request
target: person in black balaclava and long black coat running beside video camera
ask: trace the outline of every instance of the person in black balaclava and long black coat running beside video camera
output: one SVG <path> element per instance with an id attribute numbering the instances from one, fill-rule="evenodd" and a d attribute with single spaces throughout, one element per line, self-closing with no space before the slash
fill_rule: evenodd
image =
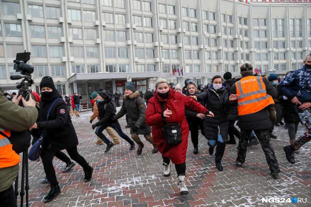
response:
<path id="1" fill-rule="evenodd" d="M 57 151 L 66 149 L 69 156 L 83 167 L 84 182 L 91 180 L 93 168 L 77 151 L 78 138 L 70 119 L 68 107 L 56 90 L 53 79 L 49 76 L 44 77 L 40 83 L 40 89 L 39 118 L 32 128 L 38 128 L 44 133 L 41 158 L 44 171 L 51 184 L 51 189 L 44 197 L 44 202 L 49 202 L 60 193 L 53 166 L 53 158 Z M 50 115 L 47 118 L 50 108 Z"/>

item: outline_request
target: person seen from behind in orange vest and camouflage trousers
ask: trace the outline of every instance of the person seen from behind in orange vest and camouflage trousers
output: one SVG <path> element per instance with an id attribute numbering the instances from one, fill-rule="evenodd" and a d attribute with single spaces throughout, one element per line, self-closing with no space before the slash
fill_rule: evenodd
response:
<path id="1" fill-rule="evenodd" d="M 238 106 L 238 126 L 241 129 L 236 165 L 242 166 L 245 162 L 247 142 L 254 130 L 266 156 L 270 173 L 277 179 L 280 169 L 268 134 L 273 126 L 268 108 L 274 104 L 273 98 L 277 91 L 266 78 L 253 75 L 251 64 L 242 64 L 240 70 L 242 78 L 232 86 L 232 94 L 229 96 L 232 104 Z"/>

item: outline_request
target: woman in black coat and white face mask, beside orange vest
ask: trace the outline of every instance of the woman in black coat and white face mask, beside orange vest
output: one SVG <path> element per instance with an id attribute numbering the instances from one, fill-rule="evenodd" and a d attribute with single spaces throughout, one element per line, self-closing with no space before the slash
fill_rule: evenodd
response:
<path id="1" fill-rule="evenodd" d="M 212 155 L 214 147 L 215 164 L 219 171 L 223 170 L 221 164 L 222 157 L 225 152 L 226 142 L 228 141 L 228 109 L 229 109 L 229 93 L 226 85 L 223 84 L 221 76 L 214 76 L 212 84 L 208 90 L 201 94 L 196 94 L 195 99 L 198 101 L 206 101 L 206 106 L 213 111 L 215 117 L 205 117 L 204 129 L 205 137 L 209 140 L 209 153 Z"/>

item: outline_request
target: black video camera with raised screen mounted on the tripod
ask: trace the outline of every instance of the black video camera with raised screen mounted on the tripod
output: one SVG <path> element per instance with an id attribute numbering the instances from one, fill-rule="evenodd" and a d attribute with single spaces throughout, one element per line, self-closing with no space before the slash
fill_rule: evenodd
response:
<path id="1" fill-rule="evenodd" d="M 34 66 L 27 64 L 27 61 L 30 60 L 30 52 L 17 53 L 16 60 L 14 60 L 14 70 L 16 72 L 21 72 L 21 75 L 13 75 L 10 76 L 11 80 L 20 80 L 23 78 L 20 84 L 16 86 L 19 89 L 18 96 L 22 95 L 25 100 L 29 100 L 29 95 L 31 93 L 31 89 L 29 89 L 34 81 L 31 79 L 31 74 L 34 72 Z"/>

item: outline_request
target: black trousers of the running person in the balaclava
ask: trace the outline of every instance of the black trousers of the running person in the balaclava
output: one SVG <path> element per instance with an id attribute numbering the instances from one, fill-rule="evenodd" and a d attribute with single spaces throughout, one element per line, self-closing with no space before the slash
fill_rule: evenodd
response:
<path id="1" fill-rule="evenodd" d="M 84 157 L 82 157 L 77 150 L 77 146 L 74 146 L 72 148 L 66 149 L 71 159 L 76 161 L 83 169 L 87 169 L 89 167 L 89 164 L 86 162 Z M 53 166 L 53 158 L 55 156 L 56 151 L 53 150 L 47 150 L 43 148 L 41 152 L 41 158 L 42 163 L 44 167 L 45 174 L 47 175 L 48 180 L 52 185 L 57 184 L 57 178 L 55 174 L 55 169 Z"/>

